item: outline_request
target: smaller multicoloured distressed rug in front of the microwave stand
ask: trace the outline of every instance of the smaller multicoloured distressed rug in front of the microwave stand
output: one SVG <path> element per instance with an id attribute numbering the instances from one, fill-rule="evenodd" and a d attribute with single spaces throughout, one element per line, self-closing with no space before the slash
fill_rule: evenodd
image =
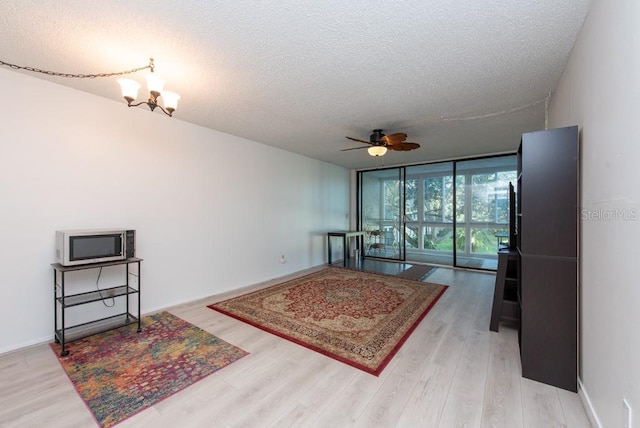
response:
<path id="1" fill-rule="evenodd" d="M 247 352 L 162 312 L 138 324 L 51 344 L 98 424 L 111 427 L 225 367 Z"/>

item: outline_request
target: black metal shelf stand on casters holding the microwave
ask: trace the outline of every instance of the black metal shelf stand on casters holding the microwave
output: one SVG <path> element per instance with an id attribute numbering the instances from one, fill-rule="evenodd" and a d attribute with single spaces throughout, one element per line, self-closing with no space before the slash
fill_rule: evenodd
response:
<path id="1" fill-rule="evenodd" d="M 65 344 L 72 342 L 83 337 L 91 336 L 93 334 L 101 333 L 107 330 L 113 330 L 125 325 L 138 323 L 138 333 L 142 331 L 140 324 L 140 284 L 141 284 L 141 269 L 140 262 L 142 259 L 137 257 L 131 257 L 125 260 L 118 260 L 104 263 L 92 263 L 78 266 L 62 266 L 59 263 L 53 263 L 53 317 L 54 317 L 54 338 L 56 343 L 60 343 L 61 350 L 60 355 L 65 356 L 69 354 L 69 350 L 65 348 Z M 129 277 L 133 275 L 130 272 L 130 265 L 137 265 L 137 272 L 135 274 L 137 287 L 133 287 Z M 125 266 L 125 284 L 115 287 L 103 288 L 100 290 L 67 294 L 65 289 L 65 274 L 67 272 L 86 270 L 86 269 L 99 269 L 108 266 Z M 115 299 L 116 297 L 124 296 L 126 300 L 125 311 L 112 315 L 96 319 L 90 322 L 67 326 L 65 323 L 65 312 L 68 308 L 84 305 L 91 302 L 99 302 L 106 299 Z M 130 299 L 137 297 L 137 316 L 131 312 Z M 59 308 L 58 308 L 59 307 Z M 58 316 L 58 310 L 60 316 Z"/>

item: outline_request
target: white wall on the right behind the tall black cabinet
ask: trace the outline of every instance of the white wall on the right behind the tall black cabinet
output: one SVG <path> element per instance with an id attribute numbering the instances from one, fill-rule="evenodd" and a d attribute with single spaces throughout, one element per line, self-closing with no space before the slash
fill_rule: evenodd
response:
<path id="1" fill-rule="evenodd" d="M 603 427 L 640 424 L 640 2 L 595 0 L 550 104 L 581 128 L 581 380 Z"/>

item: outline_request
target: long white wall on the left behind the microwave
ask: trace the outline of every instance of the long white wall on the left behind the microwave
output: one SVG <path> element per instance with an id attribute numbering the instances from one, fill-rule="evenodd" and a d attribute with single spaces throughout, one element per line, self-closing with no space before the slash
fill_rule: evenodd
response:
<path id="1" fill-rule="evenodd" d="M 344 168 L 9 70 L 0 93 L 0 353 L 53 337 L 57 229 L 136 229 L 144 313 L 320 265 L 348 228 Z"/>

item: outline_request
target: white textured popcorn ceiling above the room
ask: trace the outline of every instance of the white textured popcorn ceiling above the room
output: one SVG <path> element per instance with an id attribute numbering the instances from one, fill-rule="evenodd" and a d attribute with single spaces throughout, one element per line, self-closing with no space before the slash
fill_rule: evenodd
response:
<path id="1" fill-rule="evenodd" d="M 154 57 L 165 89 L 182 96 L 167 120 L 367 168 L 380 160 L 340 150 L 359 145 L 345 136 L 368 140 L 374 128 L 422 145 L 389 152 L 385 165 L 514 150 L 522 132 L 544 127 L 590 4 L 2 1 L 0 60 L 89 74 Z M 115 77 L 18 72 L 124 104 Z M 132 77 L 143 83 L 145 73 Z"/>

